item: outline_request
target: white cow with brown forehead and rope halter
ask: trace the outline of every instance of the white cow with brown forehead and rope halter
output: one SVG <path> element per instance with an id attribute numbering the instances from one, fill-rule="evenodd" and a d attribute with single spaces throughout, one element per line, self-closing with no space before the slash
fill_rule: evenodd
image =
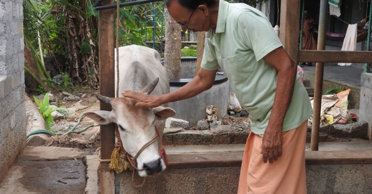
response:
<path id="1" fill-rule="evenodd" d="M 166 69 L 161 65 L 160 55 L 156 50 L 138 45 L 120 47 L 119 76 L 119 98 L 96 95 L 101 102 L 110 103 L 112 111 L 88 111 L 84 112 L 84 115 L 103 125 L 116 123 L 125 151 L 134 157 L 147 142 L 156 137 L 154 125 L 162 135 L 165 119 L 176 112 L 166 108 L 168 104 L 156 108 L 135 108 L 135 100 L 124 98 L 121 94 L 126 89 L 154 95 L 169 93 Z M 157 174 L 166 169 L 158 152 L 158 144 L 158 141 L 155 141 L 138 156 L 137 168 L 147 168 L 138 171 L 141 177 Z"/>

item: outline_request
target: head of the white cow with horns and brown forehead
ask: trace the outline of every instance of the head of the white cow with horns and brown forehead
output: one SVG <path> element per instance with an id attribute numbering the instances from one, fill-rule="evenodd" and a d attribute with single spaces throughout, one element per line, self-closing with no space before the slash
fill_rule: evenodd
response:
<path id="1" fill-rule="evenodd" d="M 142 93 L 150 94 L 157 85 L 158 78 L 142 89 Z M 99 124 L 114 122 L 119 127 L 119 134 L 123 147 L 134 157 L 140 149 L 156 137 L 155 125 L 162 134 L 164 119 L 176 112 L 171 108 L 158 106 L 156 108 L 136 108 L 137 101 L 131 98 L 109 98 L 96 94 L 100 102 L 112 106 L 112 111 L 88 111 L 83 114 Z M 161 137 L 159 137 L 161 138 Z M 166 169 L 166 165 L 159 155 L 158 141 L 146 147 L 137 158 L 137 168 L 147 168 L 138 171 L 141 177 L 157 174 Z"/>

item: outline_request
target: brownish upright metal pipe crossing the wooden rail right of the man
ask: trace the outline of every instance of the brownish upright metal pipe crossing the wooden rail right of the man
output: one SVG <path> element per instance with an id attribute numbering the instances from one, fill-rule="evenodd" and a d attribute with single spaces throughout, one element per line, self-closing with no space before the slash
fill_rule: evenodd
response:
<path id="1" fill-rule="evenodd" d="M 320 1 L 318 50 L 325 50 L 325 33 L 327 30 L 328 0 Z M 317 63 L 315 67 L 314 108 L 312 114 L 311 151 L 318 151 L 320 107 L 322 101 L 324 63 Z"/>

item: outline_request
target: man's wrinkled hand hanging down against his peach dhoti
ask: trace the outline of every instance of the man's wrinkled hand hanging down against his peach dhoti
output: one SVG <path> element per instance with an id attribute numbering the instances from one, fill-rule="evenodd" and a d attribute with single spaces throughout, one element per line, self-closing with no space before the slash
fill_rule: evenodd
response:
<path id="1" fill-rule="evenodd" d="M 278 160 L 278 157 L 282 156 L 282 145 L 283 145 L 283 134 L 282 129 L 277 130 L 274 128 L 267 127 L 262 139 L 262 154 L 263 162 L 266 163 L 269 159 L 269 163 L 273 163 L 274 160 Z"/>

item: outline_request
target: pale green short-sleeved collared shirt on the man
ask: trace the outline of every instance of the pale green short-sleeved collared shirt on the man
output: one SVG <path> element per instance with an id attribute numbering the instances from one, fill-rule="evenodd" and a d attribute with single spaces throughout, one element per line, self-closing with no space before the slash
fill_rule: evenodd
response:
<path id="1" fill-rule="evenodd" d="M 247 4 L 219 0 L 217 28 L 206 32 L 201 68 L 221 68 L 225 72 L 233 92 L 250 115 L 254 134 L 264 134 L 278 79 L 278 71 L 263 57 L 280 46 L 279 37 L 261 11 Z M 309 96 L 297 75 L 283 131 L 297 128 L 311 115 Z"/>

